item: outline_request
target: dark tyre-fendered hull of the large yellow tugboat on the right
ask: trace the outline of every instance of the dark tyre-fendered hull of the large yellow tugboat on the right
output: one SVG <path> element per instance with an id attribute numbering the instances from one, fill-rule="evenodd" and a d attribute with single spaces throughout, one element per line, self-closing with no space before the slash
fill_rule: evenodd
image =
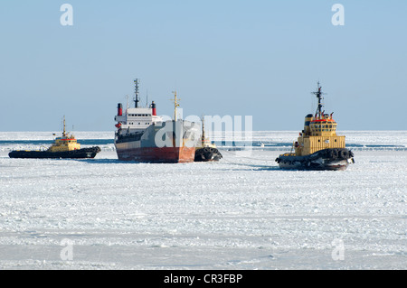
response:
<path id="1" fill-rule="evenodd" d="M 355 163 L 354 154 L 345 148 L 330 148 L 306 156 L 279 155 L 276 162 L 279 168 L 289 170 L 345 170 Z"/>

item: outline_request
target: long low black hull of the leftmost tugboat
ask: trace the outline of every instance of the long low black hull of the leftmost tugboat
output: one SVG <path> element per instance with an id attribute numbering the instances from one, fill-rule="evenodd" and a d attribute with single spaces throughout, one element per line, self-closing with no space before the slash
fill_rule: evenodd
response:
<path id="1" fill-rule="evenodd" d="M 8 153 L 10 158 L 48 158 L 48 159 L 85 159 L 95 158 L 100 152 L 98 146 L 91 148 L 82 148 L 78 150 L 48 152 L 48 151 L 12 151 Z"/>

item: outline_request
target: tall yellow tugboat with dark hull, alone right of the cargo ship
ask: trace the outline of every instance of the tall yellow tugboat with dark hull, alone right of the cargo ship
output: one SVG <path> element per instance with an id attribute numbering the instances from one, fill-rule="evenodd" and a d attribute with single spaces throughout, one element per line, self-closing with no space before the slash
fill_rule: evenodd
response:
<path id="1" fill-rule="evenodd" d="M 345 170 L 349 163 L 355 163 L 352 151 L 345 148 L 345 136 L 336 135 L 336 121 L 333 113 L 322 110 L 322 93 L 319 82 L 318 107 L 315 115 L 305 118 L 304 130 L 293 144 L 294 153 L 279 155 L 276 162 L 282 169 L 296 170 Z"/>

